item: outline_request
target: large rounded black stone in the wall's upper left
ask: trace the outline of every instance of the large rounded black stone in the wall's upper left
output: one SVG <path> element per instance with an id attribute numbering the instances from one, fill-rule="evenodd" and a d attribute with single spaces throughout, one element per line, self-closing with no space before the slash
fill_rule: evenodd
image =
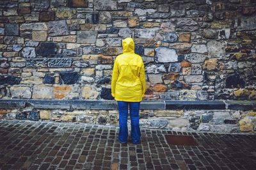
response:
<path id="1" fill-rule="evenodd" d="M 57 46 L 55 43 L 42 42 L 36 47 L 36 55 L 42 57 L 52 57 L 57 52 Z"/>

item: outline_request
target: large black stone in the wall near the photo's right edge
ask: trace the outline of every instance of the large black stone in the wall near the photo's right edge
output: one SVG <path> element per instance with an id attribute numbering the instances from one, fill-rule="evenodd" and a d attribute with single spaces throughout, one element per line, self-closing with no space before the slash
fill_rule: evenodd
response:
<path id="1" fill-rule="evenodd" d="M 245 81 L 240 78 L 238 73 L 234 75 L 230 75 L 226 79 L 226 86 L 225 88 L 244 88 Z"/>

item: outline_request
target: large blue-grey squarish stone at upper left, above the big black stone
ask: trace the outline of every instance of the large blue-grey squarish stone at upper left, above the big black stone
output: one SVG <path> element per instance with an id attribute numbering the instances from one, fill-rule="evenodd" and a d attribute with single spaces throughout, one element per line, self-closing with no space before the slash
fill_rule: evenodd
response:
<path id="1" fill-rule="evenodd" d="M 68 35 L 68 26 L 65 20 L 54 20 L 49 22 L 49 36 Z"/>

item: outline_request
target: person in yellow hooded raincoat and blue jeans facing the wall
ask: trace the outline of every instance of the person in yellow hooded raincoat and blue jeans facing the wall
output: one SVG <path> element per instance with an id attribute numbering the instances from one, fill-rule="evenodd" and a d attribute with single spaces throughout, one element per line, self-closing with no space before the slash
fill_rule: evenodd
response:
<path id="1" fill-rule="evenodd" d="M 132 143 L 140 143 L 140 102 L 145 95 L 145 68 L 141 56 L 134 53 L 134 41 L 125 38 L 123 54 L 116 57 L 111 79 L 111 95 L 118 102 L 120 143 L 127 143 L 128 106 L 131 118 Z"/>

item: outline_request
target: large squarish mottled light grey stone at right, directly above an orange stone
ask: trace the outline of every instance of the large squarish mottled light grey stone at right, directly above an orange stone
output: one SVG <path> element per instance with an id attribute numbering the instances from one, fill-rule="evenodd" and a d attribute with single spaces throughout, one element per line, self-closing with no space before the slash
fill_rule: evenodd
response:
<path id="1" fill-rule="evenodd" d="M 217 42 L 215 40 L 207 43 L 208 57 L 209 58 L 223 58 L 225 52 L 226 42 Z"/>

